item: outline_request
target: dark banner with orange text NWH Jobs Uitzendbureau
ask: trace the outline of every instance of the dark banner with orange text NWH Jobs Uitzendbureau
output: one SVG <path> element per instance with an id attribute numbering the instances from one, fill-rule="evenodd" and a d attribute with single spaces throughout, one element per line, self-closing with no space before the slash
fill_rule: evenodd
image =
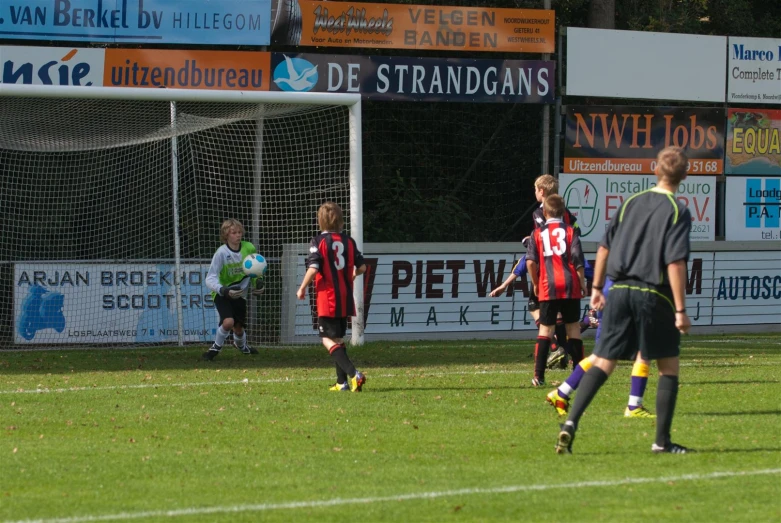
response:
<path id="1" fill-rule="evenodd" d="M 564 172 L 653 174 L 669 146 L 689 175 L 724 172 L 724 110 L 699 107 L 568 106 Z"/>

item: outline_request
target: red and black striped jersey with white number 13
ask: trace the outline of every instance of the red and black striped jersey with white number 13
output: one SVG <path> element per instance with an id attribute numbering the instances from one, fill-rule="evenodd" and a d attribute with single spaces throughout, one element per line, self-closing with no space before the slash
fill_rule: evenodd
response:
<path id="1" fill-rule="evenodd" d="M 535 229 L 526 259 L 540 267 L 537 284 L 540 301 L 581 298 L 577 269 L 583 267 L 583 250 L 580 237 L 571 226 L 551 218 Z"/>

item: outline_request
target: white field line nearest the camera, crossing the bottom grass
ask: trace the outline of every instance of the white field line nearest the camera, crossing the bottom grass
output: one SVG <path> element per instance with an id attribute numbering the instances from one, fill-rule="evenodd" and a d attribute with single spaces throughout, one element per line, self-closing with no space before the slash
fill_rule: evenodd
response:
<path id="1" fill-rule="evenodd" d="M 418 499 L 449 498 L 456 496 L 470 496 L 474 494 L 494 495 L 513 494 L 516 492 L 532 492 L 554 489 L 576 488 L 604 488 L 624 485 L 641 485 L 649 483 L 668 483 L 678 481 L 709 481 L 714 479 L 735 478 L 746 476 L 759 476 L 779 474 L 781 469 L 760 469 L 742 471 L 711 472 L 709 474 L 683 474 L 680 476 L 664 476 L 657 478 L 622 478 L 615 480 L 581 481 L 576 483 L 554 483 L 538 485 L 509 485 L 506 487 L 492 488 L 466 488 L 456 490 L 443 490 L 434 492 L 415 492 L 409 494 L 396 494 L 393 496 L 378 496 L 368 498 L 332 498 L 314 501 L 288 501 L 285 503 L 257 503 L 245 505 L 229 505 L 216 507 L 193 507 L 172 510 L 148 510 L 143 512 L 120 512 L 117 514 L 97 514 L 87 516 L 72 516 L 55 519 L 26 519 L 6 523 L 86 523 L 90 521 L 112 521 L 145 518 L 174 518 L 182 516 L 202 516 L 206 514 L 235 514 L 238 512 L 267 512 L 269 510 L 295 510 L 311 508 L 328 508 L 343 505 L 371 505 L 375 503 L 410 501 Z"/>

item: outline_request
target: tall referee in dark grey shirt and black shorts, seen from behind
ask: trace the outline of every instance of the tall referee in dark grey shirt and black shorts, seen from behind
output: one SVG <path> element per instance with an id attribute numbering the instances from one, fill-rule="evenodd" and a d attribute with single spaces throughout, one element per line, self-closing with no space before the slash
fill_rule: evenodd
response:
<path id="1" fill-rule="evenodd" d="M 556 452 L 572 452 L 580 417 L 619 359 L 634 359 L 639 350 L 656 360 L 655 453 L 692 452 L 670 441 L 681 333 L 691 327 L 686 315 L 686 262 L 689 260 L 691 214 L 675 192 L 686 178 L 683 150 L 667 147 L 657 157 L 653 189 L 628 198 L 610 221 L 597 251 L 591 307 L 604 308 L 602 336 L 594 349 L 594 366 L 583 376 L 567 421 L 561 426 Z M 610 300 L 602 287 L 607 274 L 615 283 Z"/>

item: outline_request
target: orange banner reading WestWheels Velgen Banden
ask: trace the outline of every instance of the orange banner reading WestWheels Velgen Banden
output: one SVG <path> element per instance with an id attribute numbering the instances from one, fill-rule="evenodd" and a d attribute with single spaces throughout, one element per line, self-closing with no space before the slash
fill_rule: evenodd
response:
<path id="1" fill-rule="evenodd" d="M 275 0 L 272 43 L 553 53 L 551 10 Z"/>

